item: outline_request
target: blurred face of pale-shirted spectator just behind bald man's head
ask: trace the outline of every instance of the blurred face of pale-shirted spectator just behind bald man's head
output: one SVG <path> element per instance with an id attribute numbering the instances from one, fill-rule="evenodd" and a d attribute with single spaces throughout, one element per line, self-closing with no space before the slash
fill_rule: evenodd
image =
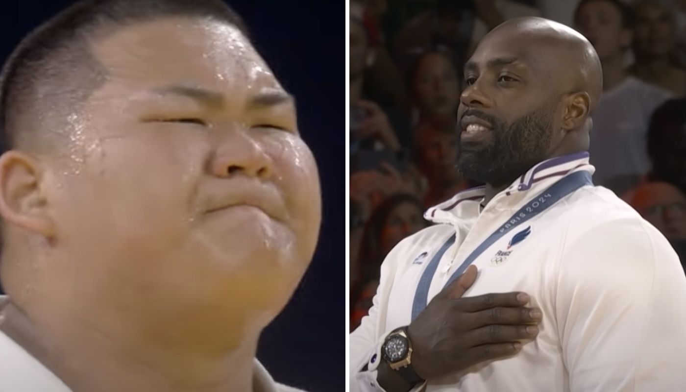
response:
<path id="1" fill-rule="evenodd" d="M 600 60 L 622 56 L 632 33 L 622 26 L 622 12 L 609 1 L 584 3 L 576 14 L 576 30 L 591 41 Z"/>

